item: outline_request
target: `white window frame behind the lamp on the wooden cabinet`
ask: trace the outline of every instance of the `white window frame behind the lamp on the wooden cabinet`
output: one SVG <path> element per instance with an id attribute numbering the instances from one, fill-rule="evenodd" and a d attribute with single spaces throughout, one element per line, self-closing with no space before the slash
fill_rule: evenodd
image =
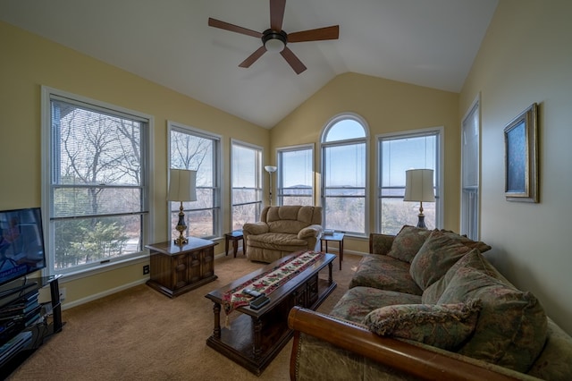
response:
<path id="1" fill-rule="evenodd" d="M 199 195 L 199 190 L 203 189 L 210 189 L 213 191 L 213 205 L 211 207 L 197 207 L 197 208 L 189 208 L 189 207 L 185 207 L 183 209 L 183 212 L 185 213 L 185 216 L 187 216 L 188 214 L 190 215 L 193 212 L 198 212 L 198 211 L 204 211 L 204 210 L 212 210 L 213 213 L 213 234 L 212 235 L 205 235 L 205 236 L 201 236 L 199 238 L 203 238 L 203 239 L 214 239 L 217 237 L 222 236 L 222 232 L 223 232 L 223 218 L 221 216 L 222 214 L 222 198 L 223 198 L 223 194 L 222 194 L 222 175 L 223 175 L 223 137 L 221 135 L 218 134 L 214 134 L 213 132 L 209 132 L 209 131 L 204 131 L 204 130 L 200 130 L 198 128 L 195 127 L 190 127 L 188 125 L 185 125 L 183 123 L 177 123 L 177 122 L 173 122 L 173 121 L 167 121 L 167 174 L 170 173 L 170 169 L 171 169 L 171 161 L 172 161 L 172 157 L 171 157 L 171 133 L 172 131 L 179 131 L 180 133 L 187 133 L 189 135 L 198 137 L 198 138 L 202 138 L 202 139 L 206 139 L 206 140 L 212 140 L 214 143 L 214 152 L 213 152 L 213 162 L 214 162 L 214 170 L 216 171 L 214 174 L 212 174 L 212 182 L 213 182 L 213 186 L 212 187 L 199 187 L 197 186 L 197 195 Z M 177 169 L 184 169 L 184 168 L 177 168 Z M 188 169 L 195 169 L 195 168 L 188 168 Z M 166 190 L 168 189 L 168 183 L 169 183 L 169 179 L 167 176 L 167 182 L 165 183 L 165 195 L 166 195 Z M 165 197 L 165 202 L 167 203 L 167 237 L 171 237 L 172 236 L 172 232 L 174 230 L 174 225 L 172 225 L 172 220 L 171 220 L 171 216 L 172 213 L 174 213 L 175 211 L 171 209 L 171 202 L 172 201 L 168 201 L 166 200 Z M 184 206 L 184 203 L 183 203 Z M 177 207 L 176 212 L 178 213 L 179 208 Z M 190 226 L 190 225 L 189 225 Z M 189 229 L 186 233 L 187 235 L 191 235 L 189 234 Z"/>

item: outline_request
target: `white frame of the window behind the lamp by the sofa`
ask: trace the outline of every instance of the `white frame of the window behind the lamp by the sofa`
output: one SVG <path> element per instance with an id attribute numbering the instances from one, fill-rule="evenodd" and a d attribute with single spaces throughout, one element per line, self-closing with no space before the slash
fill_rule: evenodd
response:
<path id="1" fill-rule="evenodd" d="M 382 164 L 382 155 L 383 155 L 383 141 L 385 140 L 400 140 L 400 139 L 408 139 L 408 138 L 416 138 L 416 137 L 424 137 L 424 136 L 436 136 L 436 147 L 435 147 L 435 168 L 434 176 L 435 176 L 435 228 L 442 228 L 442 221 L 443 221 L 443 204 L 444 200 L 442 198 L 442 189 L 443 189 L 443 168 L 442 165 L 444 163 L 444 128 L 440 127 L 430 127 L 425 129 L 419 130 L 411 130 L 411 131 L 400 131 L 400 132 L 391 132 L 391 133 L 384 133 L 375 136 L 375 232 L 376 233 L 383 233 L 382 232 L 382 199 L 400 199 L 399 197 L 382 197 L 383 187 L 383 164 Z M 414 168 L 414 169 L 421 169 L 421 168 Z M 405 189 L 405 183 L 403 184 L 403 188 Z M 403 199 L 401 197 L 401 199 Z"/>

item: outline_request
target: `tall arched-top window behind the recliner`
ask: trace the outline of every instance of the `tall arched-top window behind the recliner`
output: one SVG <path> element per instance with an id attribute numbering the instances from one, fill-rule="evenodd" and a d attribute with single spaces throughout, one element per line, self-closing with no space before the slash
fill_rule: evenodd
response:
<path id="1" fill-rule="evenodd" d="M 332 119 L 322 134 L 324 227 L 366 236 L 367 127 L 356 114 Z"/>

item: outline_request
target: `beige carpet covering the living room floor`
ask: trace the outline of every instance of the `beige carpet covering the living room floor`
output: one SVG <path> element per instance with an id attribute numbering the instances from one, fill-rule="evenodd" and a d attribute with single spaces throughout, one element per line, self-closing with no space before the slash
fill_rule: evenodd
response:
<path id="1" fill-rule="evenodd" d="M 347 290 L 361 257 L 333 266 L 338 287 L 318 309 L 328 312 Z M 217 258 L 210 284 L 169 299 L 139 285 L 63 311 L 63 331 L 33 353 L 10 380 L 288 380 L 291 343 L 260 377 L 206 346 L 213 304 L 206 293 L 261 267 L 239 253 Z M 236 313 L 236 312 L 235 312 Z"/>

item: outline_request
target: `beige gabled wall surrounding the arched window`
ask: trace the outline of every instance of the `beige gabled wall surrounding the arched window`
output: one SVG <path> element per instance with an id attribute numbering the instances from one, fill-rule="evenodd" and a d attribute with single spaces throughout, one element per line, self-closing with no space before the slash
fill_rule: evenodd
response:
<path id="1" fill-rule="evenodd" d="M 271 131 L 273 161 L 278 147 L 314 143 L 315 169 L 319 172 L 319 140 L 324 125 L 333 116 L 352 112 L 369 127 L 370 165 L 369 230 L 374 232 L 375 135 L 443 126 L 444 227 L 458 231 L 459 132 L 458 94 L 429 89 L 394 80 L 348 72 L 327 83 Z M 319 178 L 319 174 L 316 175 Z M 318 183 L 318 182 L 316 182 Z M 319 205 L 320 200 L 315 200 Z M 347 238 L 345 249 L 367 252 L 367 241 Z"/>

